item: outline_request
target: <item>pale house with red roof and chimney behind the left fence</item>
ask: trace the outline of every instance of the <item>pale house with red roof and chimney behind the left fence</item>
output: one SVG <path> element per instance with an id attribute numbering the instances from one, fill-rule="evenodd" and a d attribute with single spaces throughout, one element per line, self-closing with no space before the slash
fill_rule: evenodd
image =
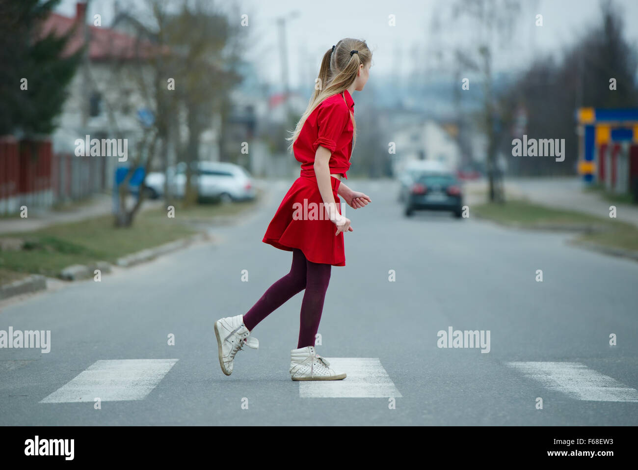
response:
<path id="1" fill-rule="evenodd" d="M 77 156 L 77 139 L 126 139 L 137 151 L 144 135 L 140 115 L 152 117 L 152 63 L 161 50 L 147 38 L 96 26 L 87 19 L 87 4 L 76 4 L 75 16 L 51 13 L 41 34 L 71 34 L 63 54 L 85 47 L 82 64 L 68 86 L 68 98 L 52 135 L 52 181 L 56 199 L 78 199 L 112 187 L 117 156 Z M 147 123 L 148 124 L 148 123 Z M 120 161 L 119 161 L 120 160 Z"/>

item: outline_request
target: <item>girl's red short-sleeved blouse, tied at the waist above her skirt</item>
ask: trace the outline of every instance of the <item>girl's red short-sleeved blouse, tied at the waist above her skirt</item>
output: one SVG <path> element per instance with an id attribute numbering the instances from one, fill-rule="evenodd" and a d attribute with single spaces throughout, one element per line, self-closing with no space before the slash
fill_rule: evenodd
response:
<path id="1" fill-rule="evenodd" d="M 354 112 L 354 107 L 355 102 L 346 89 L 328 96 L 313 109 L 292 146 L 302 172 L 314 174 L 315 153 L 318 146 L 322 146 L 332 152 L 328 162 L 330 173 L 341 173 L 348 179 L 346 171 L 350 169 L 354 130 L 350 112 Z"/>

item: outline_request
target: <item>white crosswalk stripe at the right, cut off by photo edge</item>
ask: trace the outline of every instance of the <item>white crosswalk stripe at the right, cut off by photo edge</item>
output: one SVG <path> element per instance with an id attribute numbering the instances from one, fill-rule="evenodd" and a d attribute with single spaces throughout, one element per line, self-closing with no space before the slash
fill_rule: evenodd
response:
<path id="1" fill-rule="evenodd" d="M 578 362 L 508 362 L 545 388 L 577 400 L 638 402 L 638 391 Z"/>

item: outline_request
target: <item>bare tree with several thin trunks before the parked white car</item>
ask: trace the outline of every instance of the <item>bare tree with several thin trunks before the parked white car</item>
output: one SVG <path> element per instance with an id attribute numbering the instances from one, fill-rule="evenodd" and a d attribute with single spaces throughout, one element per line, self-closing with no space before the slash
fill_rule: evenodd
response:
<path id="1" fill-rule="evenodd" d="M 211 2 L 147 0 L 146 7 L 149 20 L 144 24 L 130 14 L 126 16 L 137 29 L 140 60 L 134 68 L 134 79 L 154 119 L 144 129 L 137 157 L 119 186 L 121 206 L 115 220 L 118 226 L 132 223 L 145 197 L 142 182 L 137 202 L 131 209 L 126 208 L 133 171 L 144 163 L 148 174 L 156 153 L 166 175 L 165 199 L 172 203 L 168 184 L 171 147 L 177 160 L 187 163 L 184 203 L 195 201 L 192 163 L 198 161 L 202 132 L 214 125 L 214 116 L 225 109 L 228 90 L 241 79 L 233 72 L 241 47 L 234 40 L 238 31 Z M 185 116 L 186 142 L 182 141 L 181 116 Z"/>

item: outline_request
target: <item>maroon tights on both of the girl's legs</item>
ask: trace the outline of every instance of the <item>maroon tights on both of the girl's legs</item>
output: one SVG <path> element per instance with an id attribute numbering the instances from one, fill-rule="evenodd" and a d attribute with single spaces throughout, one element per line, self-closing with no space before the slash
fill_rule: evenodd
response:
<path id="1" fill-rule="evenodd" d="M 330 281 L 332 265 L 308 261 L 299 248 L 293 248 L 290 273 L 269 287 L 244 315 L 244 326 L 252 331 L 256 324 L 281 307 L 293 295 L 306 289 L 301 303 L 297 349 L 314 346 L 323 310 L 323 299 Z"/>

